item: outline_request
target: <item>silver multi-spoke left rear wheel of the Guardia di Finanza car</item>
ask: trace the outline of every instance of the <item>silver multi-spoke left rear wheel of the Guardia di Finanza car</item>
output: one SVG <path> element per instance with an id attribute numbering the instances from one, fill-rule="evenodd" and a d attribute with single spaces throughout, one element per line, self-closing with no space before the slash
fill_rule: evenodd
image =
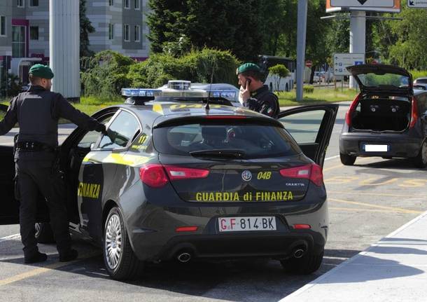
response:
<path id="1" fill-rule="evenodd" d="M 130 245 L 123 215 L 113 207 L 105 221 L 103 240 L 104 263 L 114 280 L 135 279 L 144 268 Z"/>

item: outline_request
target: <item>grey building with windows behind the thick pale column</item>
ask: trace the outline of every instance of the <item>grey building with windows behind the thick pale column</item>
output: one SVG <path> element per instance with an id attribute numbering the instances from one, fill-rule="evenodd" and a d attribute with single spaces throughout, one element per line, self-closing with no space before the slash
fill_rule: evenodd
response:
<path id="1" fill-rule="evenodd" d="M 89 35 L 90 50 L 115 50 L 145 60 L 150 50 L 147 2 L 86 0 L 86 16 L 95 29 Z M 36 62 L 49 63 L 49 0 L 1 0 L 0 88 L 7 73 L 27 83 L 28 70 Z"/>

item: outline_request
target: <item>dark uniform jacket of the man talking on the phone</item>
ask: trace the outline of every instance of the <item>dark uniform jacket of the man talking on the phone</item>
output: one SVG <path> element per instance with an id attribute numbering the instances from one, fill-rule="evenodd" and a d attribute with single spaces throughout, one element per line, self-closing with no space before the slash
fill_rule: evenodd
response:
<path id="1" fill-rule="evenodd" d="M 246 100 L 244 107 L 272 118 L 276 118 L 280 111 L 279 98 L 269 91 L 267 85 L 252 92 L 251 98 Z"/>

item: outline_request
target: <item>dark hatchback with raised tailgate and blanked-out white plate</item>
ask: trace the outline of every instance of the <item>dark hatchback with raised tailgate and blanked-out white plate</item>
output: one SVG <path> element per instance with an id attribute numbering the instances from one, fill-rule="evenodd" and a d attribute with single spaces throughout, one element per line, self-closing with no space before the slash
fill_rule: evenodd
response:
<path id="1" fill-rule="evenodd" d="M 427 166 L 427 92 L 413 90 L 405 69 L 382 64 L 347 67 L 360 85 L 339 136 L 344 165 L 357 156 L 412 158 Z"/>

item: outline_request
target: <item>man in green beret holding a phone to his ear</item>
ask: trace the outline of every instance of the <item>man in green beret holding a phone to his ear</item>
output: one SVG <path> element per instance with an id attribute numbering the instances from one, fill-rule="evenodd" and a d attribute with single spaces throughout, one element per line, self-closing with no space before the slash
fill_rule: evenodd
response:
<path id="1" fill-rule="evenodd" d="M 279 98 L 262 83 L 260 67 L 245 63 L 237 68 L 236 73 L 241 85 L 239 100 L 244 107 L 276 118 L 280 111 Z"/>

